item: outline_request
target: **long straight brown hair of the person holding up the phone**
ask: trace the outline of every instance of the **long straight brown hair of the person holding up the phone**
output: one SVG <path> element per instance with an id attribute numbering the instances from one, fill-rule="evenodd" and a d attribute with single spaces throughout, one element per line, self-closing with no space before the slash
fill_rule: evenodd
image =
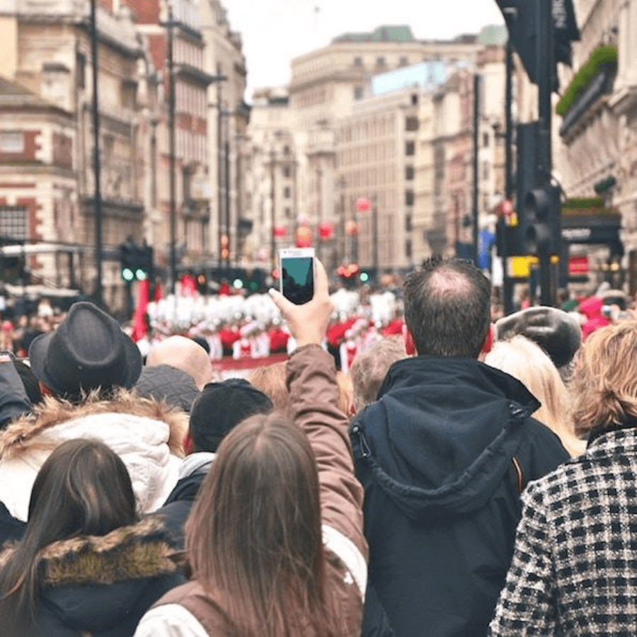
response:
<path id="1" fill-rule="evenodd" d="M 219 592 L 236 637 L 332 636 L 319 477 L 304 433 L 280 412 L 227 435 L 186 526 L 193 576 Z"/>

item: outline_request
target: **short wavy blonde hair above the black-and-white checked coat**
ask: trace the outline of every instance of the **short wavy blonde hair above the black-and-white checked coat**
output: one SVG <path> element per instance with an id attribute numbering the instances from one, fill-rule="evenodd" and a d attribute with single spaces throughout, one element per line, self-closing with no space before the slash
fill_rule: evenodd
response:
<path id="1" fill-rule="evenodd" d="M 593 332 L 575 362 L 571 389 L 575 431 L 611 427 L 637 418 L 637 321 L 619 321 Z"/>

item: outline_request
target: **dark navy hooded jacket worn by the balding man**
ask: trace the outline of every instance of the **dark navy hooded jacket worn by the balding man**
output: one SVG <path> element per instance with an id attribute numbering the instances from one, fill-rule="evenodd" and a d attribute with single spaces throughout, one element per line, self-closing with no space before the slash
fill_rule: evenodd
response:
<path id="1" fill-rule="evenodd" d="M 486 634 L 520 491 L 568 459 L 530 418 L 538 407 L 519 381 L 481 362 L 418 356 L 392 365 L 379 400 L 355 416 L 369 586 L 396 637 Z M 367 635 L 379 632 L 374 605 Z"/>

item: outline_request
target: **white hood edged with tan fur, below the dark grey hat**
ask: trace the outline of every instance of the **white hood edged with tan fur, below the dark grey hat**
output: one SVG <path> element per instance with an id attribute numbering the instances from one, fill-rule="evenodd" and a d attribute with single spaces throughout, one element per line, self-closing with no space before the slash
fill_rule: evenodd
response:
<path id="1" fill-rule="evenodd" d="M 25 521 L 31 488 L 50 453 L 67 440 L 100 440 L 124 461 L 139 513 L 163 505 L 178 481 L 188 415 L 167 403 L 117 391 L 79 405 L 47 397 L 0 432 L 0 500 Z"/>

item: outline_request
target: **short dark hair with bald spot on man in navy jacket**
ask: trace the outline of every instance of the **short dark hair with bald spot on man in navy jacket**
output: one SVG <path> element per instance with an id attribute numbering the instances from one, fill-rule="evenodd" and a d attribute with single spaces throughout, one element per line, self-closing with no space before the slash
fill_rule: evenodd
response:
<path id="1" fill-rule="evenodd" d="M 419 355 L 478 357 L 490 326 L 491 285 L 473 263 L 428 258 L 408 275 L 403 292 Z"/>

